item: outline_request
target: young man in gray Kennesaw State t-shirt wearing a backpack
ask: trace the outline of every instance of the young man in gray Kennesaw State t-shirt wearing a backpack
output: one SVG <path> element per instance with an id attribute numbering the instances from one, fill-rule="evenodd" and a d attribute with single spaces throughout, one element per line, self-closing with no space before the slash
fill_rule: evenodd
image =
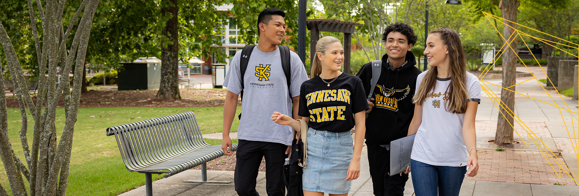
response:
<path id="1" fill-rule="evenodd" d="M 259 164 L 265 157 L 267 195 L 284 195 L 284 160 L 290 151 L 294 130 L 271 119 L 273 112 L 298 117 L 299 88 L 307 80 L 306 70 L 297 54 L 290 51 L 291 79 L 288 89 L 281 65 L 280 45 L 285 35 L 285 13 L 280 9 L 263 10 L 258 16 L 259 43 L 252 50 L 243 76 L 244 96 L 237 129 L 239 145 L 235 165 L 235 190 L 240 196 L 259 195 L 255 190 Z M 225 155 L 232 155 L 229 131 L 241 93 L 240 58 L 229 64 L 223 86 L 227 87 L 223 107 L 223 143 Z M 227 149 L 229 147 L 229 150 Z"/>

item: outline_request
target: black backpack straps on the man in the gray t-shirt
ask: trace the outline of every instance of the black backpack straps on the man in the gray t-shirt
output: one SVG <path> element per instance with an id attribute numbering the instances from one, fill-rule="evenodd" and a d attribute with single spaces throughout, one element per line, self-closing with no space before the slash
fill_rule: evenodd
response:
<path id="1" fill-rule="evenodd" d="M 277 46 L 280 49 L 280 56 L 281 56 L 281 68 L 284 70 L 285 73 L 285 81 L 288 84 L 288 90 L 290 90 L 290 80 L 291 80 L 291 61 L 290 61 L 290 48 L 287 46 Z M 241 50 L 241 58 L 239 64 L 239 70 L 241 72 L 241 101 L 243 101 L 243 90 L 245 85 L 243 83 L 243 79 L 245 76 L 245 70 L 247 70 L 247 64 L 250 61 L 251 51 L 255 48 L 255 45 L 247 45 L 243 47 Z M 291 95 L 290 95 L 291 96 Z M 237 116 L 241 120 L 241 113 Z"/>

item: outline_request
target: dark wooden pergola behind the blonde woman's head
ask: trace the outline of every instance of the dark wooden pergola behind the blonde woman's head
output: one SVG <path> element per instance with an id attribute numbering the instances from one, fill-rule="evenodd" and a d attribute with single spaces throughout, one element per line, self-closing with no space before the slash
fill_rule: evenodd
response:
<path id="1" fill-rule="evenodd" d="M 320 39 L 320 31 L 344 33 L 344 65 L 343 71 L 350 73 L 350 49 L 351 40 L 356 26 L 364 24 L 340 21 L 336 19 L 306 19 L 307 29 L 310 30 L 310 65 L 316 57 L 316 43 Z"/>

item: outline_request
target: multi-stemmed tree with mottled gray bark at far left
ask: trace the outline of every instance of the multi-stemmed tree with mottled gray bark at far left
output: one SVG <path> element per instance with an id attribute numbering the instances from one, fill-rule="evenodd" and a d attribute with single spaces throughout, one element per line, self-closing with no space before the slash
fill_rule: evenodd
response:
<path id="1" fill-rule="evenodd" d="M 66 0 L 41 1 L 28 0 L 25 7 L 30 23 L 28 38 L 34 42 L 35 61 L 38 64 L 38 95 L 33 101 L 28 92 L 28 84 L 24 79 L 24 58 L 30 58 L 32 51 L 21 51 L 19 45 L 27 43 L 13 42 L 6 28 L 5 21 L 0 20 L 0 43 L 6 58 L 8 72 L 14 83 L 14 91 L 20 106 L 21 130 L 20 143 L 24 151 L 24 162 L 12 149 L 8 138 L 8 113 L 6 96 L 0 94 L 0 159 L 4 165 L 6 176 L 13 195 L 47 195 L 62 196 L 66 194 L 68 184 L 69 162 L 72 149 L 72 136 L 80 103 L 80 88 L 83 66 L 91 24 L 100 0 L 83 0 L 74 15 L 69 20 L 63 16 L 67 6 Z M 67 14 L 66 16 L 71 15 Z M 65 27 L 66 25 L 66 27 Z M 41 30 L 41 31 L 39 31 Z M 13 31 L 10 31 L 13 32 Z M 72 35 L 72 36 L 71 36 Z M 72 37 L 71 42 L 67 42 Z M 41 41 L 42 40 L 42 41 Z M 15 45 L 14 45 L 15 44 Z M 20 52 L 17 52 L 20 51 Z M 25 57 L 23 57 L 25 56 Z M 57 87 L 57 66 L 68 73 L 74 66 L 72 90 L 70 83 L 63 82 Z M 68 81 L 68 74 L 61 75 L 61 80 Z M 4 88 L 3 79 L 0 87 Z M 57 140 L 55 125 L 58 100 L 64 99 L 65 125 L 60 139 Z M 32 116 L 32 145 L 28 143 L 28 116 Z M 30 184 L 27 191 L 25 181 Z M 5 187 L 0 185 L 0 195 L 8 195 Z"/>

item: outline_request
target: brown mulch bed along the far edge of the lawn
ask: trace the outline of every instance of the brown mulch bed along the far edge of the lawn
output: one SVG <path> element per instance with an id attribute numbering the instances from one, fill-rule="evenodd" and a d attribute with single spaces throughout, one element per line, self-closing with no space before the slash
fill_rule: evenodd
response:
<path id="1" fill-rule="evenodd" d="M 91 90 L 80 95 L 80 108 L 113 108 L 113 107 L 153 107 L 153 108 L 186 108 L 223 106 L 227 91 L 206 89 L 179 89 L 181 99 L 157 99 L 157 90 L 141 91 L 103 91 Z M 35 101 L 35 97 L 32 97 Z M 241 105 L 241 102 L 237 102 Z M 15 97 L 6 95 L 8 108 L 19 108 Z M 63 98 L 58 101 L 58 108 L 64 107 Z"/>

